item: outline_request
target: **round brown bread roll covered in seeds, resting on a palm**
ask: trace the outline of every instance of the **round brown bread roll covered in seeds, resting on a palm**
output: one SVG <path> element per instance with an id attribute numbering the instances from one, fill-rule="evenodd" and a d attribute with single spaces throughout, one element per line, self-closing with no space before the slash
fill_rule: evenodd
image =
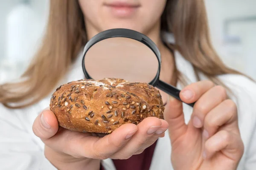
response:
<path id="1" fill-rule="evenodd" d="M 124 79 L 88 79 L 59 86 L 50 110 L 61 127 L 80 132 L 111 133 L 146 117 L 163 119 L 161 94 L 153 86 Z"/>

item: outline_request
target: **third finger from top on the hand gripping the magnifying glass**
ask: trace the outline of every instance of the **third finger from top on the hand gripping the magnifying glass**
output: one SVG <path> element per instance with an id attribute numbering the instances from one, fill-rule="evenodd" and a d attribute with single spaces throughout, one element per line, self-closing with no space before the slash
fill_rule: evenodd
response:
<path id="1" fill-rule="evenodd" d="M 226 126 L 226 130 L 230 127 L 236 129 L 239 134 L 236 104 L 230 99 L 221 102 L 206 115 L 204 119 L 204 138 L 208 139 L 214 135 L 219 127 L 223 125 Z"/>

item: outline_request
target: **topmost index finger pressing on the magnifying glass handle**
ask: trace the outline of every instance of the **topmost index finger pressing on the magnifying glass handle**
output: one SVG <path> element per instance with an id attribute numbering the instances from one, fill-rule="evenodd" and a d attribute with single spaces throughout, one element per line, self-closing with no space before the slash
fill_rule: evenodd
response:
<path id="1" fill-rule="evenodd" d="M 180 91 L 180 99 L 185 103 L 196 102 L 206 91 L 214 87 L 209 80 L 192 83 Z"/>

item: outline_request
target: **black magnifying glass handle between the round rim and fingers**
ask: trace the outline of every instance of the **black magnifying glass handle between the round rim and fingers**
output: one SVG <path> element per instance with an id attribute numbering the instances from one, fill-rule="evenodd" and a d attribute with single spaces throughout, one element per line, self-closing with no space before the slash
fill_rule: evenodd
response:
<path id="1" fill-rule="evenodd" d="M 166 92 L 167 94 L 175 97 L 176 99 L 180 100 L 181 102 L 183 102 L 180 99 L 180 90 L 175 88 L 172 85 L 167 84 L 166 82 L 163 82 L 161 80 L 159 80 L 158 84 L 156 85 L 157 88 L 159 88 L 160 90 Z M 185 102 L 184 102 L 185 103 Z M 195 103 L 186 103 L 187 105 L 194 107 Z"/>

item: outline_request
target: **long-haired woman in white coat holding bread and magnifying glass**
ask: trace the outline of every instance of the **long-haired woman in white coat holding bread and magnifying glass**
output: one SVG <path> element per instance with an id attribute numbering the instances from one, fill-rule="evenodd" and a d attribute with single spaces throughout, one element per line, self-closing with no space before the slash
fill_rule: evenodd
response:
<path id="1" fill-rule="evenodd" d="M 161 92 L 165 120 L 149 117 L 102 138 L 59 128 L 44 109 L 52 92 L 83 77 L 84 45 L 110 28 L 151 38 L 160 79 L 181 88 L 183 102 L 197 101 L 193 110 Z M 256 167 L 256 84 L 213 50 L 203 0 L 52 0 L 42 47 L 22 78 L 0 86 L 1 170 Z"/>

